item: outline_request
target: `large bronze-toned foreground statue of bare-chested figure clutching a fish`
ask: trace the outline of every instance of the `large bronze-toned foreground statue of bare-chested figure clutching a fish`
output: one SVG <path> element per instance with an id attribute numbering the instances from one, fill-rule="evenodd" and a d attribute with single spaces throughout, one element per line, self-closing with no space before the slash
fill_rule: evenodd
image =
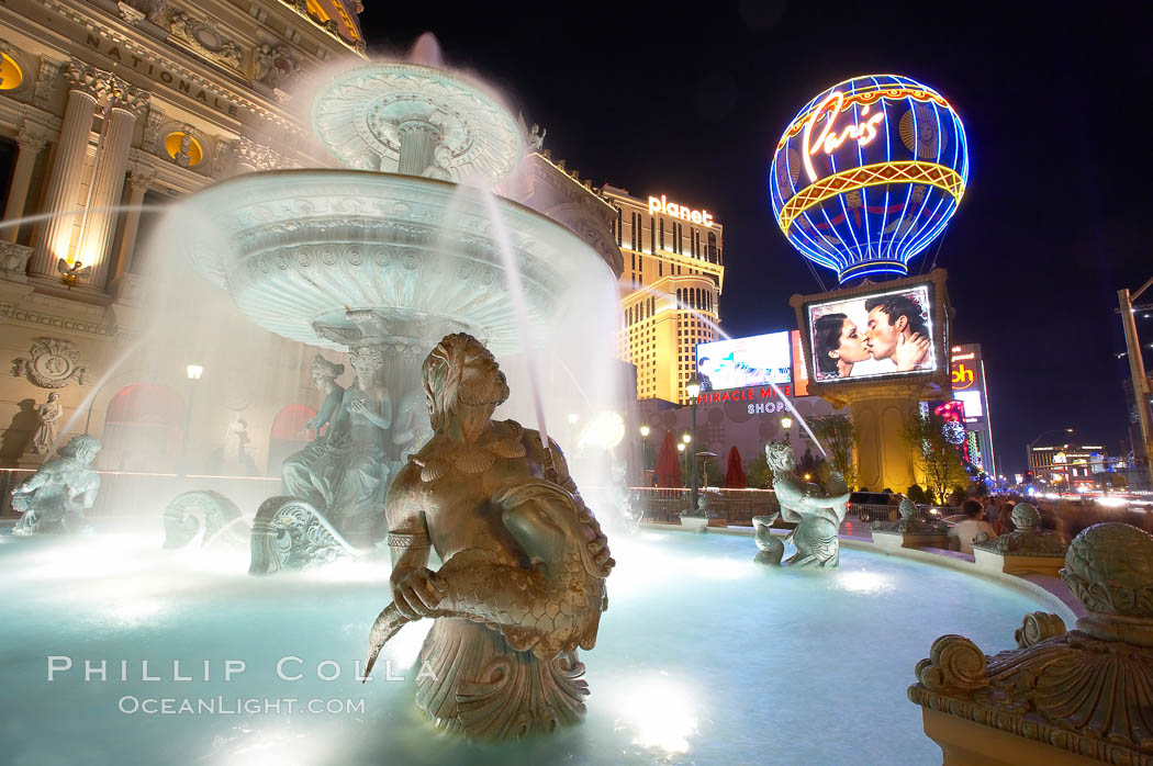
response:
<path id="1" fill-rule="evenodd" d="M 416 704 L 472 740 L 575 722 L 615 562 L 560 449 L 492 412 L 508 385 L 475 338 L 445 336 L 424 361 L 432 438 L 389 487 L 392 604 L 377 617 L 366 675 L 413 620 L 434 617 Z M 435 549 L 444 564 L 428 569 Z M 435 677 L 434 677 L 435 675 Z"/>

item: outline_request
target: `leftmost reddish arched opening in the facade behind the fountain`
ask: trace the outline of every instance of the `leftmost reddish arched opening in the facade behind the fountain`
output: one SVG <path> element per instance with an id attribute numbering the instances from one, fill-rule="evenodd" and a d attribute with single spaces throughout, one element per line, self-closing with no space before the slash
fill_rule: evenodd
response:
<path id="1" fill-rule="evenodd" d="M 180 461 L 184 400 L 172 388 L 133 384 L 108 402 L 98 464 L 115 471 L 166 473 Z"/>

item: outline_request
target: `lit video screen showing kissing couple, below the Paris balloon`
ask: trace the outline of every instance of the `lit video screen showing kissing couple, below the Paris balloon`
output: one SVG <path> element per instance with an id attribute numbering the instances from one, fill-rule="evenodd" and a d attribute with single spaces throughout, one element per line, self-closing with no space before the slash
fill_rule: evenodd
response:
<path id="1" fill-rule="evenodd" d="M 934 285 L 805 306 L 815 382 L 909 376 L 936 370 Z"/>

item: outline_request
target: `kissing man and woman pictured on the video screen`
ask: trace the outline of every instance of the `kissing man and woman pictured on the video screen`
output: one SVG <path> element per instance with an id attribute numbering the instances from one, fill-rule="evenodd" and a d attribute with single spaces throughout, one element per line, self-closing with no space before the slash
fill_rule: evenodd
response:
<path id="1" fill-rule="evenodd" d="M 921 304 L 905 293 L 864 299 L 865 332 L 849 314 L 836 312 L 813 323 L 813 352 L 822 380 L 847 378 L 853 365 L 888 359 L 892 367 L 866 373 L 912 372 L 932 362 L 932 335 Z"/>

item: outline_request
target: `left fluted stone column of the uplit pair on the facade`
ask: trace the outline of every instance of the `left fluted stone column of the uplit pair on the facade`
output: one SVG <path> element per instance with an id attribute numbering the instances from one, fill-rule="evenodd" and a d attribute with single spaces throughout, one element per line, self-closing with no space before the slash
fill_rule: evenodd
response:
<path id="1" fill-rule="evenodd" d="M 56 259 L 68 256 L 73 226 L 76 223 L 71 213 L 76 212 L 80 182 L 84 175 L 92 116 L 97 100 L 107 85 L 104 73 L 75 59 L 65 74 L 69 89 L 68 106 L 65 108 L 52 174 L 44 195 L 44 212 L 53 218 L 42 225 L 30 267 L 32 274 L 46 276 L 56 273 Z"/>

